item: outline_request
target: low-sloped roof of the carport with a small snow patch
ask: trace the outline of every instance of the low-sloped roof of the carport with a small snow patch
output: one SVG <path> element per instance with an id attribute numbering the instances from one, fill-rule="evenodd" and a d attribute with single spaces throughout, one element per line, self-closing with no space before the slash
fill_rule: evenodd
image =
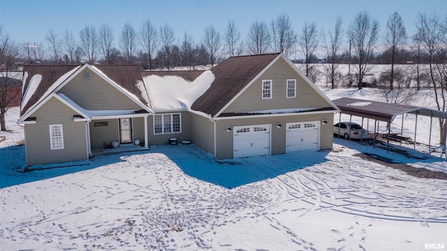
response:
<path id="1" fill-rule="evenodd" d="M 412 105 L 400 105 L 388 102 L 361 100 L 357 98 L 339 98 L 332 100 L 339 107 L 340 112 L 361 116 L 368 119 L 392 122 L 399 114 L 418 114 L 435 118 L 447 119 L 447 112 Z"/>

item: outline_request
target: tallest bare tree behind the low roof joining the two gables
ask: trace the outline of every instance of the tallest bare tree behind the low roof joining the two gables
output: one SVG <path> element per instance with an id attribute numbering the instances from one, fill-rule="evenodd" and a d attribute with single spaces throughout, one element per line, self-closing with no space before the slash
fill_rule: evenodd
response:
<path id="1" fill-rule="evenodd" d="M 142 47 L 142 56 L 144 57 L 149 70 L 152 70 L 152 58 L 156 52 L 157 34 L 156 29 L 150 22 L 146 20 L 142 23 L 140 30 L 140 45 Z"/>

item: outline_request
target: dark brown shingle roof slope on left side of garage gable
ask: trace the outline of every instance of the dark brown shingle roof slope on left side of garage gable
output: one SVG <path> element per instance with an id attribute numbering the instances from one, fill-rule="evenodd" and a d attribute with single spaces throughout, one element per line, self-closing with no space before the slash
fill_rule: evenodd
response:
<path id="1" fill-rule="evenodd" d="M 240 93 L 279 53 L 233 56 L 212 68 L 216 79 L 191 106 L 191 109 L 214 117 Z"/>

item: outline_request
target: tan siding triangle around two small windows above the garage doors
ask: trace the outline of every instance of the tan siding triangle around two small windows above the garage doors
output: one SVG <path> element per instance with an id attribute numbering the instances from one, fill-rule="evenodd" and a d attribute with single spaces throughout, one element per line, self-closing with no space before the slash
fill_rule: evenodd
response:
<path id="1" fill-rule="evenodd" d="M 296 98 L 286 98 L 287 79 L 296 79 Z M 272 80 L 271 99 L 262 98 L 263 80 Z M 280 58 L 223 112 L 309 107 L 321 108 L 330 105 L 284 59 Z"/>

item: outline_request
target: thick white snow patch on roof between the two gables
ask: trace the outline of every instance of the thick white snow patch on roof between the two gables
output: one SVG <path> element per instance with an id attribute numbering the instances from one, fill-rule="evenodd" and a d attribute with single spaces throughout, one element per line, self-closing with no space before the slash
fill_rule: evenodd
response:
<path id="1" fill-rule="evenodd" d="M 149 75 L 143 77 L 149 100 L 155 111 L 190 109 L 193 102 L 210 88 L 214 73 L 206 70 L 193 82 L 178 76 Z"/>

